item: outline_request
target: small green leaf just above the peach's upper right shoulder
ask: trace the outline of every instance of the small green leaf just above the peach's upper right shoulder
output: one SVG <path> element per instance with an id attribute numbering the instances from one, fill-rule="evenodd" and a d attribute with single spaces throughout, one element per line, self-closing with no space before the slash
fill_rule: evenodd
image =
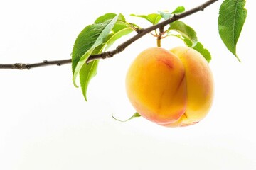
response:
<path id="1" fill-rule="evenodd" d="M 183 38 L 183 41 L 186 43 L 186 45 L 188 47 L 192 47 L 192 42 L 191 40 L 189 40 L 188 38 Z M 207 62 L 210 62 L 211 60 L 211 55 L 210 52 L 203 47 L 203 45 L 201 44 L 201 42 L 197 42 L 196 45 L 194 47 L 192 47 L 194 50 L 197 50 L 198 52 L 201 53 L 201 55 L 203 55 L 203 57 L 205 57 L 205 59 L 207 60 Z"/>

